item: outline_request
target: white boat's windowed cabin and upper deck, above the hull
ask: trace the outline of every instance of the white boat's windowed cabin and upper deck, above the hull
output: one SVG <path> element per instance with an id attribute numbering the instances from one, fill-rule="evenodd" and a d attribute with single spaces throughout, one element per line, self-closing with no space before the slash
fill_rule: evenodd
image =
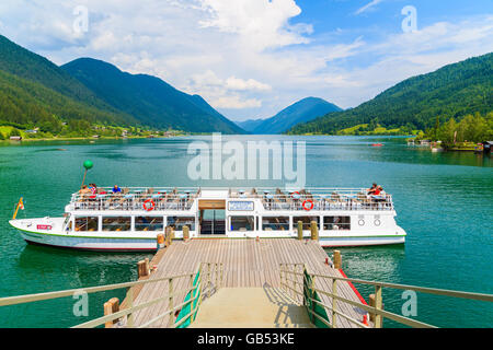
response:
<path id="1" fill-rule="evenodd" d="M 290 236 L 297 223 L 305 231 L 317 222 L 320 231 L 351 231 L 393 220 L 390 195 L 367 196 L 366 189 L 273 188 L 124 188 L 113 194 L 74 194 L 67 206 L 69 232 L 159 233 L 183 228 L 192 236 Z"/>

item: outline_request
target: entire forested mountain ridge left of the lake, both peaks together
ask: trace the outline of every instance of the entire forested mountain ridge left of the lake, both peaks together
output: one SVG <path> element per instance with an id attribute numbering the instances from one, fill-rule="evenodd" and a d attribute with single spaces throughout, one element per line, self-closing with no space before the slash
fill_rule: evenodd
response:
<path id="1" fill-rule="evenodd" d="M 77 74 L 68 69 L 81 61 L 98 62 L 95 75 L 113 81 L 91 77 L 83 65 Z M 58 67 L 0 35 L 0 125 L 43 126 L 42 131 L 57 135 L 73 120 L 65 135 L 91 133 L 98 125 L 244 133 L 199 95 L 181 92 L 157 77 L 134 75 L 92 58 Z"/>

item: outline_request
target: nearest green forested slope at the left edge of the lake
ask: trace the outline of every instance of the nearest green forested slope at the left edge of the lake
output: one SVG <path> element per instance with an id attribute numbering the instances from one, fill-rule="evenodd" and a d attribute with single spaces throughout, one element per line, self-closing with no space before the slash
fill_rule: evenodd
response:
<path id="1" fill-rule="evenodd" d="M 0 35 L 0 120 L 24 125 L 64 119 L 135 124 L 46 58 Z"/>

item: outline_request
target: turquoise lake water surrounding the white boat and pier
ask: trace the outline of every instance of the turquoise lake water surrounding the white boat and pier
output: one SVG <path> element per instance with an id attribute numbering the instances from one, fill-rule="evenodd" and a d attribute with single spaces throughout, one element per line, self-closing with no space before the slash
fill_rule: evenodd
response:
<path id="1" fill-rule="evenodd" d="M 230 137 L 245 142 L 261 137 Z M 431 153 L 402 138 L 270 137 L 307 142 L 307 185 L 362 187 L 372 182 L 393 195 L 403 246 L 343 248 L 348 277 L 493 293 L 493 162 L 471 153 Z M 146 255 L 98 254 L 27 246 L 8 220 L 19 197 L 20 217 L 60 215 L 92 160 L 87 182 L 100 186 L 280 185 L 276 182 L 193 182 L 187 145 L 207 137 L 46 141 L 0 145 L 0 296 L 131 281 Z M 382 148 L 370 143 L 383 142 Z M 7 144 L 7 143 L 5 143 Z M 331 254 L 331 250 L 328 250 Z M 372 291 L 356 285 L 364 298 Z M 0 327 L 68 327 L 102 315 L 123 291 L 90 296 L 89 317 L 72 314 L 74 300 L 0 308 Z M 383 290 L 386 310 L 401 313 L 400 291 Z M 419 320 L 442 327 L 492 327 L 493 305 L 417 295 Z M 386 322 L 386 326 L 395 326 Z"/>

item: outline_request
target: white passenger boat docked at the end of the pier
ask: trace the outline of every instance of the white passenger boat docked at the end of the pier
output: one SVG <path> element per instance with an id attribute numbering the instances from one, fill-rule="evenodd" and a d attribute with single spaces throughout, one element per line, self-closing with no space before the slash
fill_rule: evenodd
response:
<path id="1" fill-rule="evenodd" d="M 390 195 L 366 189 L 123 188 L 76 192 L 61 218 L 18 219 L 10 224 L 32 244 L 113 252 L 154 250 L 167 226 L 200 238 L 285 238 L 298 222 L 310 237 L 317 222 L 324 247 L 402 244 Z"/>

